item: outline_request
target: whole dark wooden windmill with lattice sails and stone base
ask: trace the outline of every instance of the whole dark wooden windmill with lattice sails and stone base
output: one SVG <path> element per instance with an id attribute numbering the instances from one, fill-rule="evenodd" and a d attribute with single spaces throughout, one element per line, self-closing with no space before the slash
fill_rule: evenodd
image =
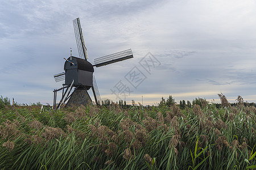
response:
<path id="1" fill-rule="evenodd" d="M 88 94 L 88 90 L 92 88 L 95 103 L 100 105 L 101 97 L 98 92 L 96 79 L 94 78 L 93 67 L 101 67 L 109 65 L 110 63 L 123 61 L 125 59 L 133 58 L 133 52 L 131 49 L 124 50 L 122 52 L 110 54 L 108 56 L 95 58 L 94 65 L 87 61 L 88 54 L 85 47 L 84 36 L 82 35 L 82 28 L 80 19 L 73 20 L 77 49 L 79 57 L 72 56 L 64 58 L 64 72 L 55 74 L 53 77 L 56 82 L 65 80 L 63 87 L 53 90 L 53 109 L 60 108 L 61 105 L 87 105 L 92 103 L 92 99 Z M 72 89 L 74 88 L 73 92 Z M 62 97 L 58 105 L 56 105 L 57 92 L 62 90 Z"/>

